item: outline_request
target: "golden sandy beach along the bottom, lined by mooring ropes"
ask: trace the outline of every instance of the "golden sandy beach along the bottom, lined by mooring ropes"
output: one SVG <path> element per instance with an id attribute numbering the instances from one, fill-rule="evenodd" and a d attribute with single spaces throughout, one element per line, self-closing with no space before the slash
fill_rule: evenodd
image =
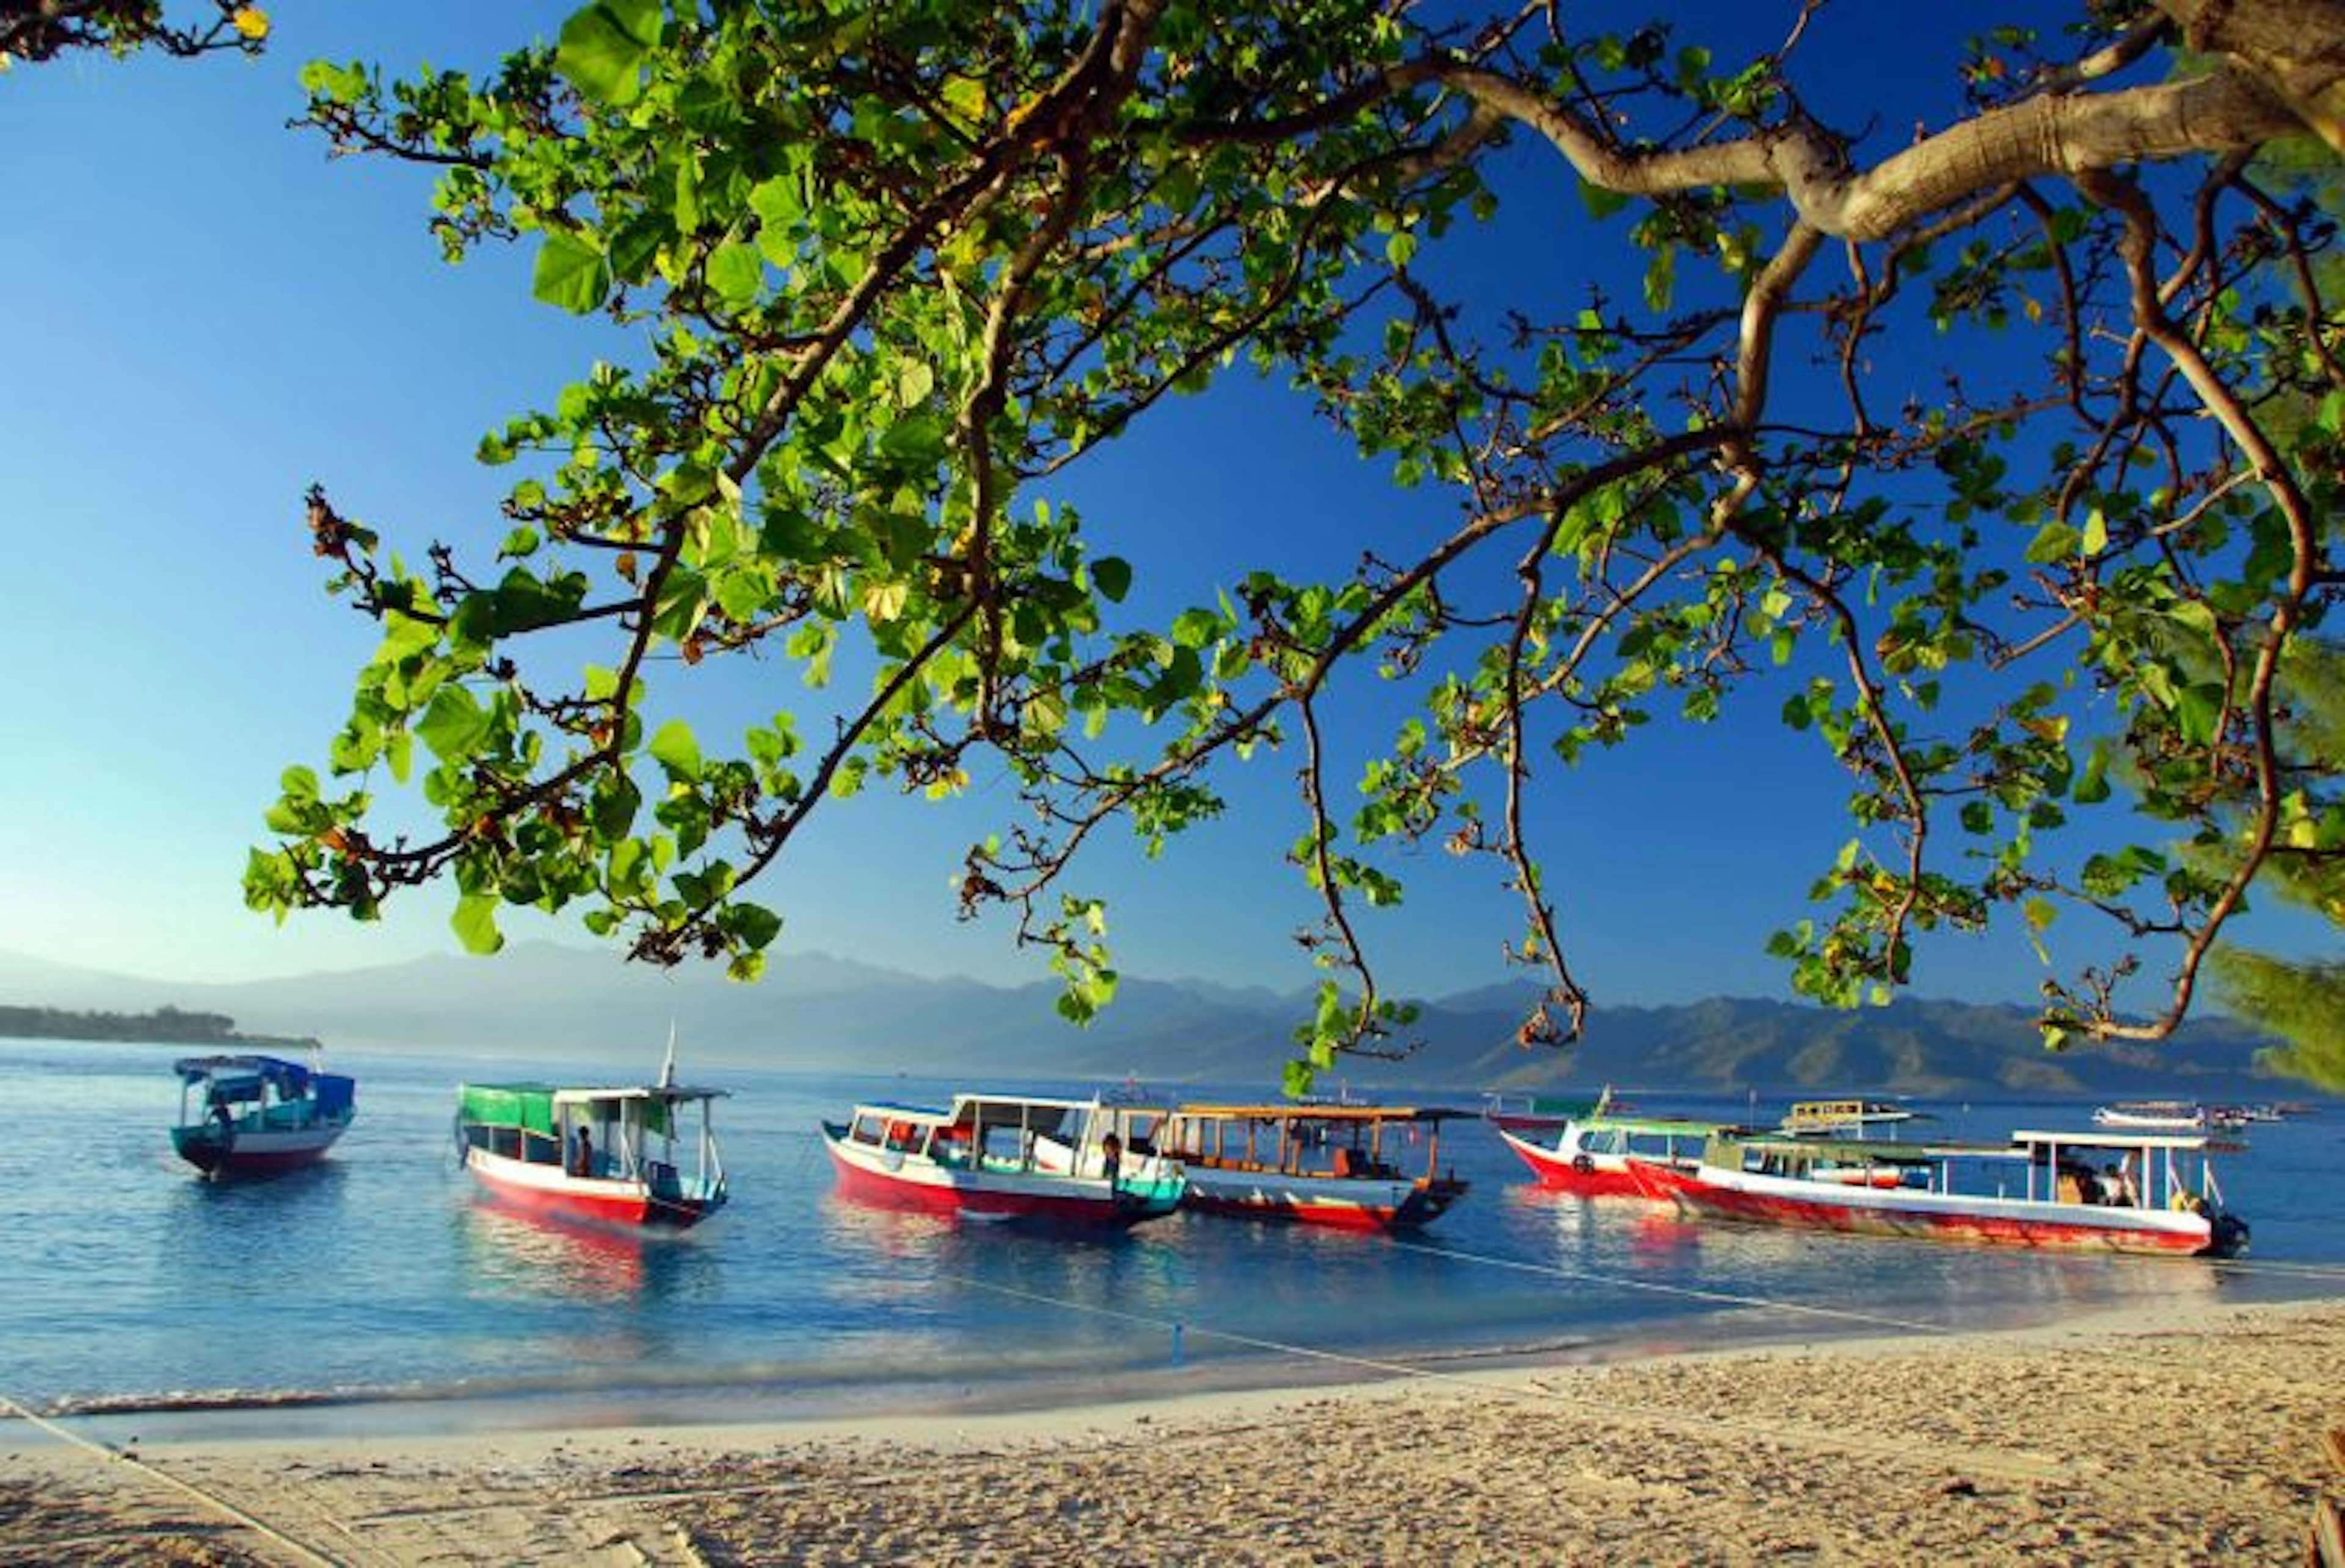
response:
<path id="1" fill-rule="evenodd" d="M 2345 1491 L 2340 1364 L 2329 1301 L 994 1416 L 148 1439 L 136 1463 L 12 1420 L 0 1563 L 2289 1563 Z"/>

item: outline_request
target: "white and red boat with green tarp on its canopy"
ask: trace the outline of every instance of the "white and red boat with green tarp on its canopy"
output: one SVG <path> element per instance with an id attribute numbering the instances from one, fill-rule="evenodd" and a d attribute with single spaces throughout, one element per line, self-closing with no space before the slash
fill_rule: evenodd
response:
<path id="1" fill-rule="evenodd" d="M 725 1207 L 713 1113 L 727 1092 L 682 1088 L 673 1066 L 671 1055 L 645 1085 L 457 1085 L 464 1170 L 490 1198 L 535 1214 L 687 1230 Z"/>

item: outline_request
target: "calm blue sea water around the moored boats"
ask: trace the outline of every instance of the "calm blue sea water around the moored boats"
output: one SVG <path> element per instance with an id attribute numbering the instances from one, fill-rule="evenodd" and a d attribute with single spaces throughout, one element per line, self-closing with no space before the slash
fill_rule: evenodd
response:
<path id="1" fill-rule="evenodd" d="M 359 1120 L 324 1165 L 206 1184 L 169 1146 L 176 1055 L 0 1038 L 14 1259 L 0 1270 L 0 1395 L 101 1425 L 171 1411 L 197 1430 L 265 1420 L 279 1434 L 354 1409 L 375 1425 L 725 1420 L 2345 1296 L 2340 1106 L 2261 1125 L 2218 1167 L 2254 1223 L 2239 1266 L 1700 1226 L 1543 1193 L 1480 1123 L 1442 1139 L 1473 1193 L 1414 1242 L 1194 1214 L 1083 1242 L 832 1193 L 821 1116 L 865 1097 L 940 1102 L 947 1083 L 687 1071 L 734 1090 L 718 1113 L 734 1202 L 685 1238 L 633 1240 L 492 1207 L 450 1139 L 460 1078 L 626 1071 L 338 1055 L 328 1064 L 359 1078 Z M 2089 1116 L 1930 1109 L 1942 1137 Z"/>

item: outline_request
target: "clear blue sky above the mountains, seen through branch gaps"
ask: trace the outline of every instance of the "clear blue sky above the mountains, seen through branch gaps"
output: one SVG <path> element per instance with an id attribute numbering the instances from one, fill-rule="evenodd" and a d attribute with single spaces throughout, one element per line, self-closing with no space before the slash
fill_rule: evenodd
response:
<path id="1" fill-rule="evenodd" d="M 415 555 L 431 537 L 485 555 L 509 476 L 474 466 L 481 431 L 549 401 L 607 342 L 530 302 L 528 251 L 446 267 L 420 173 L 331 164 L 284 122 L 307 59 L 483 68 L 565 9 L 286 2 L 260 61 L 70 59 L 0 77 L 14 213 L 0 246 L 0 949 L 185 980 L 455 949 L 446 891 L 380 926 L 310 914 L 274 928 L 242 907 L 274 778 L 321 762 L 373 642 L 321 593 L 300 497 L 319 480 Z M 1829 45 L 1850 59 L 1888 49 L 1911 16 L 1841 14 Z M 1517 281 L 1576 298 L 1576 246 L 1559 241 L 1585 218 L 1569 180 L 1536 166 L 1538 197 L 1468 265 L 1513 248 Z M 1602 251 L 1618 253 L 1616 232 Z M 1151 605 L 1233 581 L 1257 565 L 1241 548 L 1325 567 L 1449 520 L 1437 492 L 1388 490 L 1250 375 L 1165 408 L 1055 495 L 1097 525 L 1095 548 L 1135 560 Z M 786 705 L 795 680 L 762 670 L 781 687 L 757 701 Z M 1538 837 L 1599 1003 L 1785 989 L 1766 933 L 1806 914 L 1846 823 L 1841 776 L 1780 729 L 1780 696 L 1752 691 L 1710 729 L 1658 724 L 1550 778 Z M 1309 980 L 1290 933 L 1311 907 L 1280 865 L 1292 769 L 1259 759 L 1233 780 L 1233 818 L 1161 865 L 1112 846 L 1076 874 L 1112 898 L 1126 973 Z M 788 919 L 783 954 L 1034 977 L 1004 923 L 952 919 L 947 877 L 1006 811 L 1006 792 L 980 788 L 952 811 L 868 795 L 830 813 L 764 888 Z M 1409 905 L 1367 921 L 1386 982 L 1442 994 L 1501 977 L 1517 921 L 1487 867 L 1428 851 L 1405 872 Z M 2028 998 L 2040 977 L 2003 933 L 1925 947 L 1918 991 Z"/>

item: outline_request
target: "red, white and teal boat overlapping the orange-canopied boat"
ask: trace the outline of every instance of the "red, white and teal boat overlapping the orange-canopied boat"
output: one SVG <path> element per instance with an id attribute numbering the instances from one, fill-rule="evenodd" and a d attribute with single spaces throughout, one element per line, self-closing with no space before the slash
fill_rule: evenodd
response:
<path id="1" fill-rule="evenodd" d="M 840 1191 L 994 1221 L 1119 1228 L 1180 1207 L 1180 1165 L 1135 1146 L 1133 1111 L 1093 1099 L 954 1095 L 861 1104 L 823 1123 Z M 1142 1141 L 1144 1144 L 1144 1141 Z"/>

